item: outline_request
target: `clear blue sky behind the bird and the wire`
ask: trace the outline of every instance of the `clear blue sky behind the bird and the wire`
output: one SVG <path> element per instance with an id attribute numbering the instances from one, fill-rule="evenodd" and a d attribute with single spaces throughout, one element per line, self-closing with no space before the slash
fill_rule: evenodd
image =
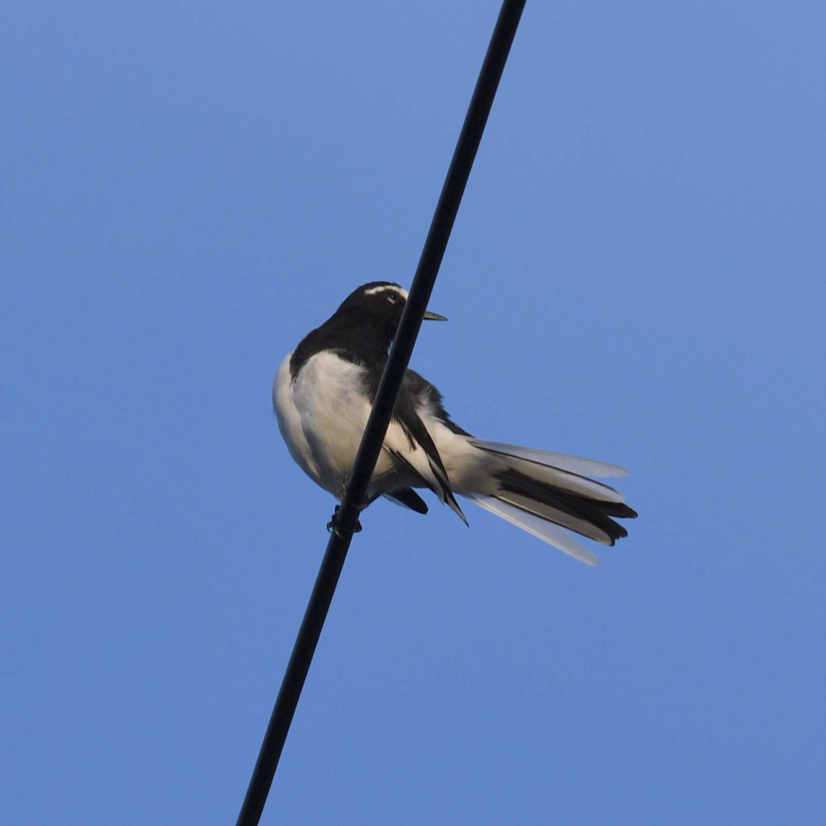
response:
<path id="1" fill-rule="evenodd" d="M 273 375 L 411 281 L 497 11 L 3 4 L 4 822 L 234 822 L 334 504 Z M 371 508 L 263 823 L 821 822 L 824 24 L 529 2 L 412 365 L 640 518 Z"/>

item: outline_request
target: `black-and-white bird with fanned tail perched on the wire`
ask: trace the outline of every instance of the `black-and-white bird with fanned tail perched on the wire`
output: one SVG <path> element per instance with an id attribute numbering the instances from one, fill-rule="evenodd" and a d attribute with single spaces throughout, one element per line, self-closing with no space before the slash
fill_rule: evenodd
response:
<path id="1" fill-rule="evenodd" d="M 408 293 L 396 282 L 356 288 L 283 359 L 273 411 L 287 450 L 316 484 L 341 501 L 376 398 Z M 446 321 L 426 311 L 425 320 Z M 627 471 L 592 459 L 477 439 L 451 419 L 442 394 L 412 369 L 401 383 L 363 506 L 383 496 L 419 514 L 429 489 L 465 525 L 463 496 L 589 565 L 599 558 L 577 537 L 614 545 L 616 519 L 637 512 L 593 477 Z M 338 513 L 338 506 L 336 507 Z M 328 528 L 335 526 L 334 521 Z M 360 525 L 356 526 L 360 529 Z"/>

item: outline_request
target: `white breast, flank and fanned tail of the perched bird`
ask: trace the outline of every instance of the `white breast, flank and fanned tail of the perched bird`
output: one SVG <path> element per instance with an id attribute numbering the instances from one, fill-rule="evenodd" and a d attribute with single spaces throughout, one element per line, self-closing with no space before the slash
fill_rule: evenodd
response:
<path id="1" fill-rule="evenodd" d="M 373 287 L 373 293 L 377 287 Z M 273 408 L 292 458 L 320 487 L 342 498 L 370 413 L 368 368 L 334 349 L 309 355 L 297 374 L 293 354 L 284 358 L 273 382 Z M 420 379 L 420 377 L 416 377 Z M 420 380 L 424 381 L 424 380 Z M 426 382 L 425 382 L 426 384 Z M 619 477 L 627 471 L 592 459 L 476 439 L 450 422 L 435 388 L 415 396 L 415 412 L 433 440 L 449 490 L 518 525 L 589 565 L 599 563 L 569 533 L 613 545 L 626 535 L 607 516 L 632 516 L 624 496 L 591 476 Z M 393 496 L 403 488 L 430 487 L 467 523 L 452 496 L 445 496 L 441 472 L 399 420 L 393 419 L 368 487 L 368 499 Z M 509 483 L 508 480 L 511 480 Z M 515 480 L 515 482 L 513 481 Z M 612 510 L 614 509 L 614 510 Z M 617 510 L 619 509 L 619 510 Z M 613 529 L 610 526 L 613 526 Z"/>

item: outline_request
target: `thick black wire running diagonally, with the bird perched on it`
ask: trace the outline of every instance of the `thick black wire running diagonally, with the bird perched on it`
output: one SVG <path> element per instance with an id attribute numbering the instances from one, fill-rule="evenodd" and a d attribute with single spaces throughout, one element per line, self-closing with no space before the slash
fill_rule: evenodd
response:
<path id="1" fill-rule="evenodd" d="M 473 90 L 468 114 L 465 116 L 462 132 L 453 152 L 448 174 L 444 179 L 439 203 L 436 205 L 433 221 L 422 249 L 419 265 L 415 271 L 410 294 L 407 297 L 405 311 L 401 316 L 401 323 L 396 333 L 387 366 L 384 368 L 382 381 L 378 386 L 376 400 L 373 402 L 373 411 L 364 430 L 361 444 L 358 447 L 353 472 L 350 474 L 349 485 L 344 500 L 341 503 L 337 528 L 330 534 L 327 550 L 313 586 L 310 601 L 307 604 L 301 629 L 298 631 L 296 644 L 292 648 L 292 656 L 287 664 L 287 671 L 278 691 L 273 714 L 269 719 L 267 732 L 264 734 L 258 761 L 255 763 L 253 775 L 249 781 L 244 804 L 238 816 L 237 826 L 257 826 L 267 800 L 269 788 L 273 783 L 278 759 L 281 757 L 284 741 L 295 714 L 298 698 L 304 686 L 310 662 L 321 634 L 321 628 L 330 609 L 335 586 L 339 582 L 341 569 L 344 567 L 344 558 L 353 539 L 353 529 L 358 524 L 359 505 L 367 495 L 370 477 L 376 467 L 378 453 L 382 449 L 387 426 L 390 423 L 396 398 L 399 395 L 401 382 L 404 378 L 407 364 L 410 362 L 416 336 L 419 335 L 422 316 L 430 301 L 430 293 L 439 266 L 442 263 L 444 250 L 448 245 L 450 232 L 453 230 L 453 221 L 456 220 L 459 203 L 462 201 L 465 185 L 476 157 L 482 132 L 485 130 L 487 116 L 491 112 L 496 88 L 505 69 L 505 62 L 510 52 L 519 25 L 525 0 L 505 0 L 502 3 L 496 27 L 491 36 L 491 43 L 487 48 L 482 71 L 476 88 Z"/>

